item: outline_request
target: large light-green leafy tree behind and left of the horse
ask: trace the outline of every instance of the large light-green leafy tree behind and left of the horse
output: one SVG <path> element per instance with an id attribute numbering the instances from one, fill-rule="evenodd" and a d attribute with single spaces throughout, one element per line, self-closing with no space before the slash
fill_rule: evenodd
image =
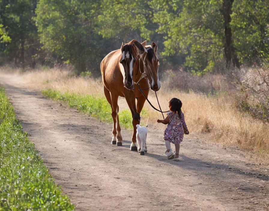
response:
<path id="1" fill-rule="evenodd" d="M 38 2 L 35 20 L 40 40 L 56 62 L 71 63 L 79 73 L 99 68 L 108 41 L 95 30 L 100 8 L 97 0 Z"/>

